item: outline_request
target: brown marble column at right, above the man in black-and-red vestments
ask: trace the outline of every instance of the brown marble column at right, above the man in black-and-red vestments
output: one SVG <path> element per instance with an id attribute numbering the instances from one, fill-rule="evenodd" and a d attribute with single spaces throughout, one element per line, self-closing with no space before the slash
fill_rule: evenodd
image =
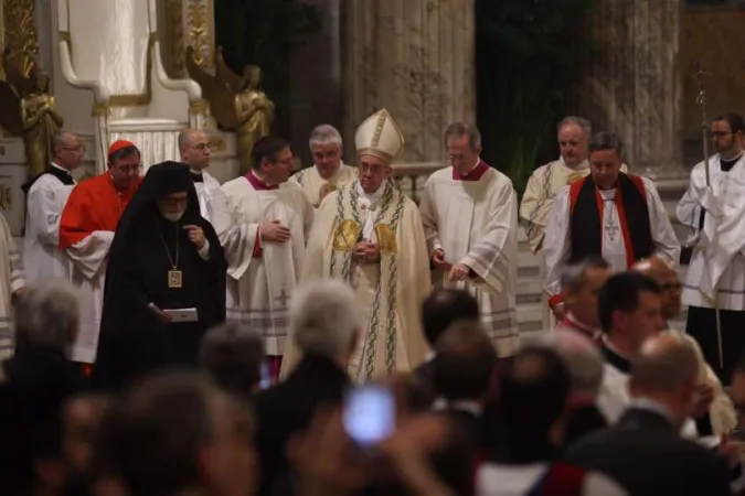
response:
<path id="1" fill-rule="evenodd" d="M 594 10 L 582 111 L 620 134 L 634 172 L 680 176 L 682 0 L 596 0 Z"/>

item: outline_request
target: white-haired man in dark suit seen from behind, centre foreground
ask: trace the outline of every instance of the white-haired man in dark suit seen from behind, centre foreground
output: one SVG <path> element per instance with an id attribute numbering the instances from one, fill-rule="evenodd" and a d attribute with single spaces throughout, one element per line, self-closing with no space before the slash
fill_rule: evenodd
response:
<path id="1" fill-rule="evenodd" d="M 256 395 L 259 494 L 289 478 L 287 442 L 315 413 L 342 403 L 350 386 L 347 365 L 362 328 L 353 290 L 337 280 L 301 287 L 290 306 L 290 337 L 304 358 L 284 382 Z"/>

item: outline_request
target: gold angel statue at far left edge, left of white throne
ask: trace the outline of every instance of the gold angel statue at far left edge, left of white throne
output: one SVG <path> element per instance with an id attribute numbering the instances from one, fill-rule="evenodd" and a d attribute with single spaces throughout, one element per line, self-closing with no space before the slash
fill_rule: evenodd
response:
<path id="1" fill-rule="evenodd" d="M 62 128 L 54 97 L 49 94 L 50 78 L 34 63 L 28 72 L 2 57 L 6 79 L 0 80 L 0 123 L 13 136 L 23 137 L 29 177 L 41 174 L 52 162 L 52 139 Z"/>

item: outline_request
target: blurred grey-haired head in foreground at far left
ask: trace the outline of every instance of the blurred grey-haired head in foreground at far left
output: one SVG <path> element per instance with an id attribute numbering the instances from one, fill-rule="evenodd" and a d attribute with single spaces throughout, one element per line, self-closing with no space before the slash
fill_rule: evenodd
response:
<path id="1" fill-rule="evenodd" d="M 66 351 L 81 317 L 79 291 L 64 279 L 26 287 L 15 305 L 15 341 L 30 347 Z"/>

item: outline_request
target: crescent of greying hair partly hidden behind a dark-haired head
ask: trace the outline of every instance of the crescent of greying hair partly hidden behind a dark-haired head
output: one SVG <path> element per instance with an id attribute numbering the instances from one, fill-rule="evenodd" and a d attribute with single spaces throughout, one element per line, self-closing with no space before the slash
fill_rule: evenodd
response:
<path id="1" fill-rule="evenodd" d="M 597 395 L 603 384 L 603 357 L 597 347 L 576 331 L 553 330 L 526 339 L 525 347 L 556 353 L 570 370 L 572 390 Z"/>

